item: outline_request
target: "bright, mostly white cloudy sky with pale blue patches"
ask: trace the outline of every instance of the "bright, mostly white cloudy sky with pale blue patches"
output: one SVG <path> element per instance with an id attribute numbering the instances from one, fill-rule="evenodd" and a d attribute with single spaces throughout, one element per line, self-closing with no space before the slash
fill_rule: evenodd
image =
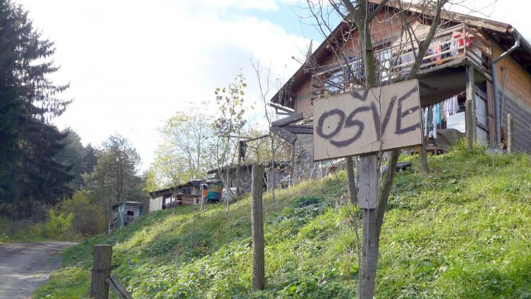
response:
<path id="1" fill-rule="evenodd" d="M 74 102 L 56 126 L 73 128 L 84 145 L 120 133 L 138 150 L 143 170 L 159 145 L 157 127 L 177 111 L 213 101 L 216 87 L 231 83 L 240 69 L 248 83 L 245 99 L 259 101 L 251 59 L 271 66 L 284 83 L 300 67 L 291 57 L 304 61 L 310 39 L 313 49 L 323 40 L 299 18 L 302 0 L 15 1 L 42 37 L 55 42 L 61 69 L 54 82 L 71 84 L 61 98 Z M 472 2 L 483 8 L 491 1 L 465 6 Z M 499 0 L 484 13 L 528 38 L 530 6 Z"/>

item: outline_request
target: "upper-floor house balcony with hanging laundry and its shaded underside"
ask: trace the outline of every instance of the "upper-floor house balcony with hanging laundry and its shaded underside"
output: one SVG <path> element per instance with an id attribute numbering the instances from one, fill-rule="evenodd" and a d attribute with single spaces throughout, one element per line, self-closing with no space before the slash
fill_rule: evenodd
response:
<path id="1" fill-rule="evenodd" d="M 420 42 L 425 37 L 418 38 Z M 491 77 L 491 46 L 468 25 L 441 29 L 435 35 L 416 78 L 420 85 L 420 102 L 428 106 L 465 91 L 466 67 L 474 69 L 474 83 L 484 87 Z M 396 83 L 408 75 L 417 47 L 410 42 L 395 42 L 374 51 L 377 80 L 380 84 Z M 341 63 L 312 70 L 312 99 L 350 92 L 363 87 L 363 63 L 355 57 Z M 483 89 L 483 88 L 482 88 Z"/>

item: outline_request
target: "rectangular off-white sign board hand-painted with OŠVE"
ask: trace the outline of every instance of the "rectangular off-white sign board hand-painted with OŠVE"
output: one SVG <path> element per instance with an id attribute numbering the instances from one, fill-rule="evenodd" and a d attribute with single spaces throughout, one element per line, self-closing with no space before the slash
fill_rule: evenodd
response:
<path id="1" fill-rule="evenodd" d="M 422 144 L 418 80 L 315 99 L 314 160 Z"/>

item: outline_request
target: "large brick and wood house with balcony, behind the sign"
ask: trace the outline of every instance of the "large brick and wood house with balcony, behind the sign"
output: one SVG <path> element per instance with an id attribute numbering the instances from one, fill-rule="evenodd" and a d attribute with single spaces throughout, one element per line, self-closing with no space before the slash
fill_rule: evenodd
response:
<path id="1" fill-rule="evenodd" d="M 369 9 L 380 3 L 380 0 L 369 0 Z M 380 85 L 401 82 L 413 64 L 413 51 L 418 43 L 405 39 L 401 16 L 415 19 L 413 30 L 423 42 L 433 20 L 429 13 L 429 9 L 418 4 L 391 0 L 372 20 L 370 38 Z M 315 99 L 362 88 L 360 81 L 355 80 L 357 76 L 363 78 L 364 71 L 358 37 L 357 28 L 340 23 L 307 56 L 307 61 L 271 102 L 302 112 L 306 123 L 311 124 Z M 437 132 L 434 132 L 437 129 L 470 134 L 492 145 L 500 145 L 503 132 L 507 132 L 507 114 L 512 114 L 515 147 L 517 151 L 530 152 L 531 46 L 513 26 L 442 12 L 441 24 L 416 78 L 425 115 L 426 111 L 437 111 L 440 115 L 439 108 L 452 112 L 444 122 L 437 120 L 432 128 L 428 126 L 429 121 L 424 122 L 425 135 L 432 135 L 429 142 L 433 145 L 437 145 Z M 453 101 L 453 110 L 444 106 L 448 100 Z M 472 117 L 465 118 L 465 102 L 473 103 L 469 108 Z M 467 124 L 470 127 L 465 126 Z M 467 131 L 466 128 L 472 129 Z M 311 169 L 321 166 L 321 162 L 314 162 L 312 145 L 312 135 L 298 135 L 293 143 L 295 158 L 292 159 L 298 176 L 307 177 Z"/>

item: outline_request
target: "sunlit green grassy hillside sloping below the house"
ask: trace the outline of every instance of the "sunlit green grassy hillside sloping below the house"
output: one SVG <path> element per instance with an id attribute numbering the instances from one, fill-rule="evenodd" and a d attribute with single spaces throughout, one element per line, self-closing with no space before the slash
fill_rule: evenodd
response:
<path id="1" fill-rule="evenodd" d="M 531 157 L 478 147 L 429 157 L 432 173 L 397 173 L 377 298 L 531 298 Z M 264 197 L 266 290 L 251 292 L 250 199 L 149 214 L 66 251 L 35 298 L 83 298 L 91 246 L 114 244 L 113 274 L 135 298 L 355 298 L 353 219 L 344 173 Z M 78 265 L 78 262 L 85 261 Z M 77 265 L 77 266 L 76 266 Z"/>

